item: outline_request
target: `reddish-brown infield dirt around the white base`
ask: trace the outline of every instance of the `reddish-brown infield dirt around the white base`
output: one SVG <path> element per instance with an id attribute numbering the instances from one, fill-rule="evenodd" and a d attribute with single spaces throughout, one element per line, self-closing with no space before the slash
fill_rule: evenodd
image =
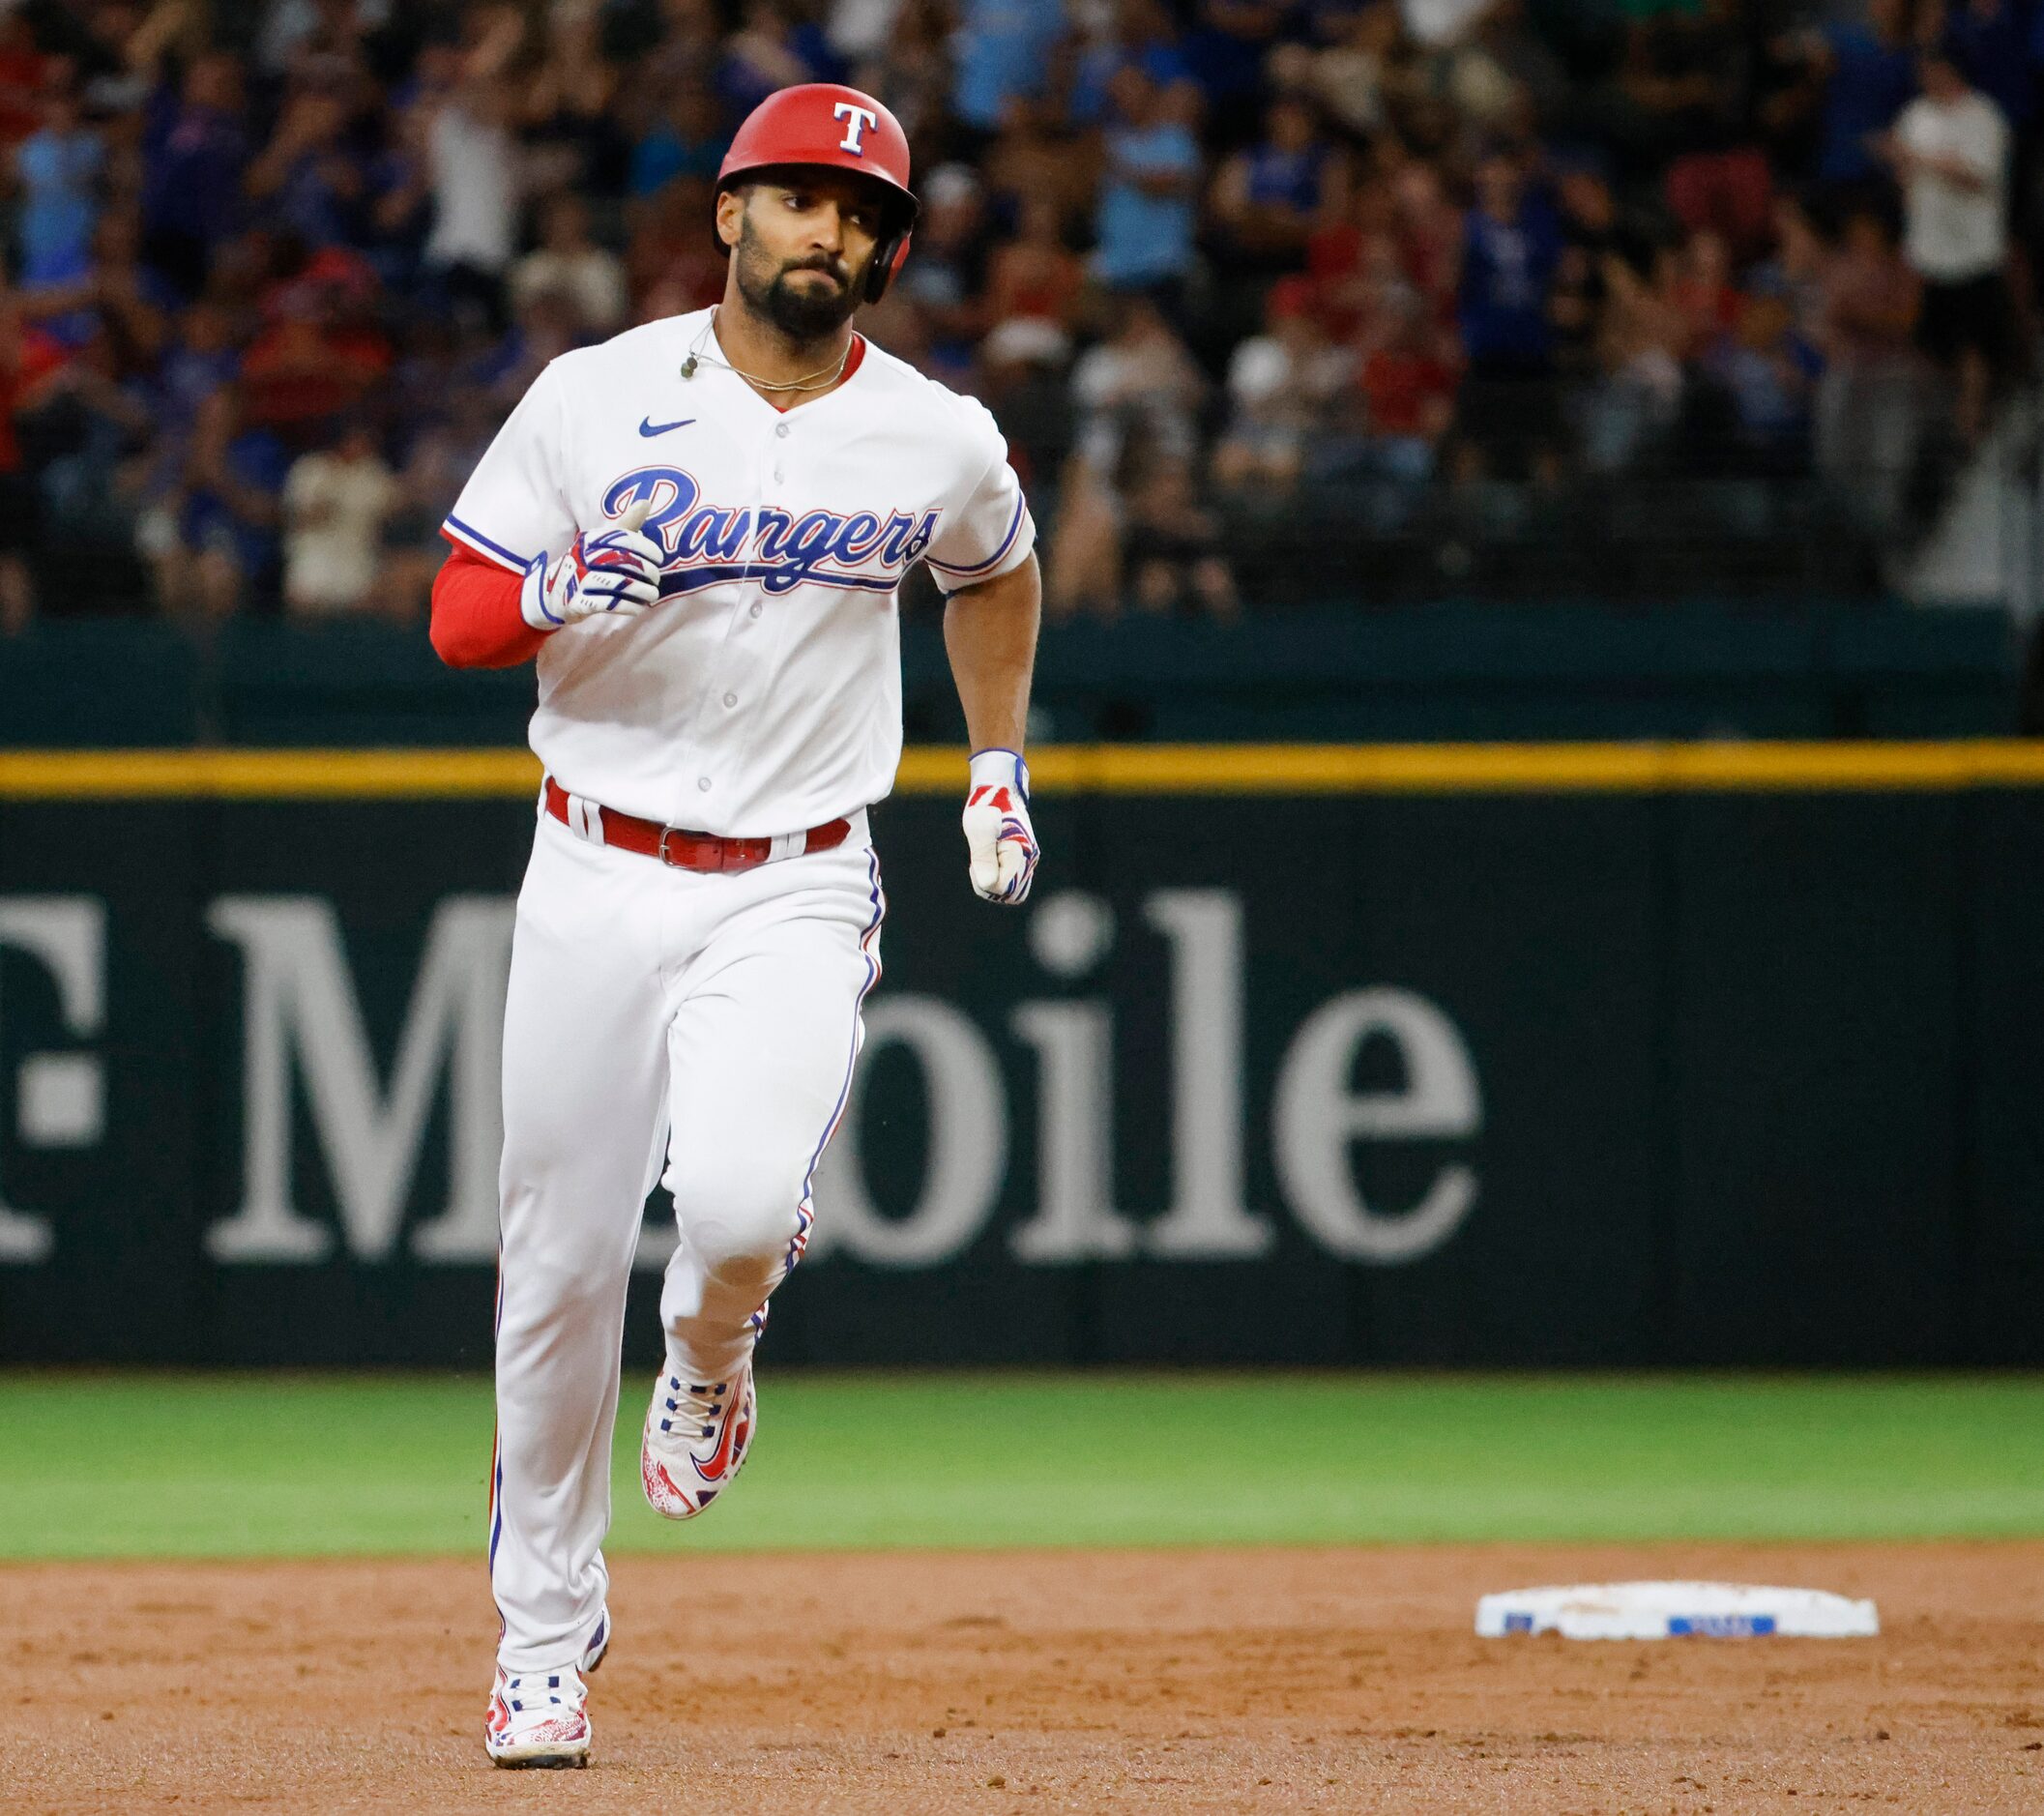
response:
<path id="1" fill-rule="evenodd" d="M 1705 1575 L 1874 1640 L 1478 1640 Z M 476 1560 L 0 1569 L 0 1808 L 2044 1810 L 2044 1544 L 619 1558 L 595 1759 L 482 1755 Z"/>

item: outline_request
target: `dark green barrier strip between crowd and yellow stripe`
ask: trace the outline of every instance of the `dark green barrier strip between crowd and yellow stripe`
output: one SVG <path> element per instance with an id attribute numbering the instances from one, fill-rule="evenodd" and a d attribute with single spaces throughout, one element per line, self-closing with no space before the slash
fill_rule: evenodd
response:
<path id="1" fill-rule="evenodd" d="M 901 618 L 901 703 L 940 744 L 965 722 L 932 603 Z M 0 746 L 521 746 L 533 701 L 529 667 L 450 669 L 419 626 L 378 620 L 235 618 L 204 640 L 37 620 L 4 654 Z M 1030 726 L 1038 742 L 1960 738 L 2015 730 L 2019 673 L 2003 611 L 1349 597 L 1237 624 L 1047 624 Z"/>

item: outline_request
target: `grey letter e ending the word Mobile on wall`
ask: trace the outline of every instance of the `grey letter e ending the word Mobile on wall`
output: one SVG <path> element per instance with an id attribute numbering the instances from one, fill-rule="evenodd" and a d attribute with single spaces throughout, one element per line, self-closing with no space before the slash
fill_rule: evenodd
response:
<path id="1" fill-rule="evenodd" d="M 1374 1035 L 1398 1043 L 1402 1090 L 1349 1088 L 1355 1055 Z M 1445 1141 L 1482 1123 L 1476 1068 L 1455 1025 L 1410 990 L 1353 990 L 1316 1008 L 1292 1037 L 1271 1108 L 1278 1180 L 1298 1221 L 1337 1256 L 1416 1262 L 1470 1215 L 1474 1170 L 1443 1166 L 1410 1211 L 1372 1211 L 1349 1170 L 1349 1143 Z"/>

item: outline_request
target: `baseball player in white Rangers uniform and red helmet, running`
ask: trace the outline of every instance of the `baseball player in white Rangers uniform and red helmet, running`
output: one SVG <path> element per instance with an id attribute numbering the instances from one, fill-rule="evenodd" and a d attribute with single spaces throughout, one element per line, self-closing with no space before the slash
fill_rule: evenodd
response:
<path id="1" fill-rule="evenodd" d="M 458 667 L 538 659 L 546 767 L 505 1006 L 486 1744 L 583 1765 L 625 1284 L 654 1180 L 679 1239 L 640 1446 L 701 1513 L 758 1432 L 752 1348 L 881 973 L 867 806 L 901 755 L 920 560 L 973 740 L 973 890 L 1036 867 L 1022 724 L 1034 526 L 987 411 L 852 331 L 916 221 L 854 88 L 769 96 L 717 184 L 715 309 L 554 360 L 462 491 L 433 587 Z"/>

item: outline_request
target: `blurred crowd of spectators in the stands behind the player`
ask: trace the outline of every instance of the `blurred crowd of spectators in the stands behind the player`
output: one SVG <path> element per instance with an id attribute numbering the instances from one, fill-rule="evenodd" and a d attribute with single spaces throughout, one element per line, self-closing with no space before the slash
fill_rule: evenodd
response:
<path id="1" fill-rule="evenodd" d="M 2034 0 L 0 0 L 0 628 L 419 616 L 805 80 L 910 131 L 863 325 L 993 407 L 1053 611 L 1641 481 L 1889 534 L 2030 370 L 2040 65 Z"/>

